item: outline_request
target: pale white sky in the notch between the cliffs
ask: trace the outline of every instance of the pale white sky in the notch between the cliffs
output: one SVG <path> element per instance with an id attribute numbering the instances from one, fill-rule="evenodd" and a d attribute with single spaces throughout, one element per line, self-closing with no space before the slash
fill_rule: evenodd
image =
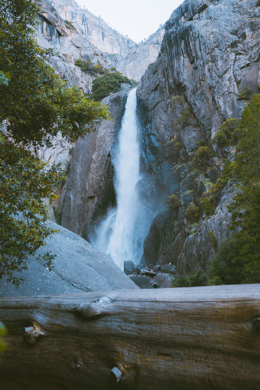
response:
<path id="1" fill-rule="evenodd" d="M 75 0 L 136 43 L 156 32 L 183 0 Z"/>

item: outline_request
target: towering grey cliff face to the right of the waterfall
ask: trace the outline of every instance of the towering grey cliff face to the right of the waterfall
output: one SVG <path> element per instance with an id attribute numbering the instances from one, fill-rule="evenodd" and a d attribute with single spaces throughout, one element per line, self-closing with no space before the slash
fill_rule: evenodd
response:
<path id="1" fill-rule="evenodd" d="M 212 231 L 218 243 L 229 233 L 232 183 L 223 190 L 215 216 L 202 218 L 199 198 L 216 182 L 223 157 L 232 160 L 233 149 L 218 150 L 206 172 L 188 172 L 197 140 L 207 142 L 221 123 L 239 118 L 245 102 L 239 91 L 248 87 L 250 98 L 259 93 L 260 10 L 246 0 L 186 1 L 166 22 L 162 49 L 138 85 L 142 125 L 142 167 L 161 201 L 175 193 L 182 206 L 178 215 L 164 209 L 154 218 L 144 243 L 143 263 L 168 260 L 182 274 L 206 267 L 214 255 Z M 182 95 L 191 108 L 192 126 L 177 128 L 180 116 L 172 97 Z M 179 140 L 183 147 L 175 148 Z M 200 207 L 200 216 L 187 223 L 190 202 Z M 162 206 L 162 208 L 165 206 Z"/>

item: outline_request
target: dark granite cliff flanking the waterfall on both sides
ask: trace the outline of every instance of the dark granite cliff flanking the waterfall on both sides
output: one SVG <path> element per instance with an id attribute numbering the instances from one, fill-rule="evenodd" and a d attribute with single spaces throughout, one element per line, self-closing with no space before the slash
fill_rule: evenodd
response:
<path id="1" fill-rule="evenodd" d="M 143 178 L 136 190 L 151 223 L 141 264 L 171 261 L 179 274 L 206 269 L 220 241 L 230 234 L 226 205 L 232 201 L 234 182 L 224 188 L 209 218 L 199 199 L 221 176 L 225 159 L 232 161 L 234 148 L 213 145 L 216 156 L 202 170 L 193 171 L 187 163 L 198 149 L 196 142 L 203 139 L 209 145 L 221 123 L 240 117 L 246 101 L 237 100 L 239 92 L 248 87 L 249 98 L 259 92 L 259 14 L 255 2 L 248 0 L 185 1 L 165 24 L 158 58 L 137 89 Z M 174 96 L 182 96 L 184 108 L 189 107 L 189 123 L 180 124 L 182 108 L 172 101 Z M 87 239 L 90 226 L 115 204 L 110 157 L 125 97 L 126 92 L 120 92 L 107 98 L 117 124 L 102 124 L 97 136 L 90 135 L 85 144 L 78 141 L 75 148 L 78 153 L 83 144 L 87 149 L 94 146 L 94 158 L 74 154 L 60 212 L 62 224 Z M 83 168 L 86 164 L 88 169 Z M 76 171 L 84 172 L 80 181 Z M 172 194 L 181 201 L 177 215 L 165 204 Z M 194 220 L 185 216 L 190 203 L 200 209 Z"/>

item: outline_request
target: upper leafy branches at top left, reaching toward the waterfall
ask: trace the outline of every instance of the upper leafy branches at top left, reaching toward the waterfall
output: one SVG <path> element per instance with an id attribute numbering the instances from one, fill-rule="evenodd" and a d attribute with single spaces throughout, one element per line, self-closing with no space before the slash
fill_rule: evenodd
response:
<path id="1" fill-rule="evenodd" d="M 0 69 L 9 72 L 9 86 L 0 84 L 0 123 L 6 135 L 27 145 L 51 145 L 58 132 L 76 140 L 108 117 L 106 108 L 70 88 L 39 56 L 34 40 L 37 5 L 30 0 L 0 3 Z M 86 128 L 88 124 L 88 128 Z"/>

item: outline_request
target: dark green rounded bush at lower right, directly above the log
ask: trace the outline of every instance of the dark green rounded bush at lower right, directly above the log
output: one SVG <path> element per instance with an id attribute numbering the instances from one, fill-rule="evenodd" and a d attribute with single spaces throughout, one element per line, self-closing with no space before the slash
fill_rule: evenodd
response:
<path id="1" fill-rule="evenodd" d="M 210 263 L 209 285 L 241 284 L 244 279 L 242 264 L 237 260 L 239 246 L 236 236 L 221 241 L 215 259 Z"/>

